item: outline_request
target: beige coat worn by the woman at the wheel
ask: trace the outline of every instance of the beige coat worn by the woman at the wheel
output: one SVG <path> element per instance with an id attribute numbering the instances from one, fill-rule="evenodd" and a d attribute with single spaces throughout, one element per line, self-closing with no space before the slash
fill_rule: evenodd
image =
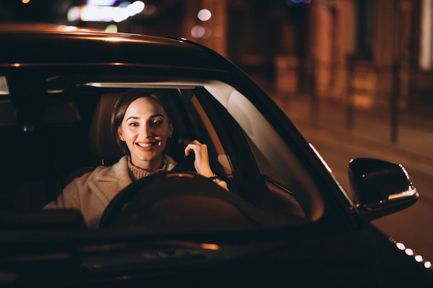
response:
<path id="1" fill-rule="evenodd" d="M 167 171 L 174 166 L 176 162 L 167 157 Z M 131 182 L 128 157 L 124 156 L 113 166 L 99 166 L 94 171 L 75 178 L 57 200 L 46 204 L 44 209 L 78 209 L 87 227 L 96 229 L 105 207 Z"/>

